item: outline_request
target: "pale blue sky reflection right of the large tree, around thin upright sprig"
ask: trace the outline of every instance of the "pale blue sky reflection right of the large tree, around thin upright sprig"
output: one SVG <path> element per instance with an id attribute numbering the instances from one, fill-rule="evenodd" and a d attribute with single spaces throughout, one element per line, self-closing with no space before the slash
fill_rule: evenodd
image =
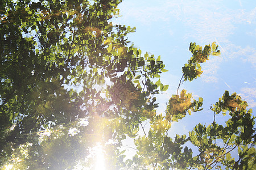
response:
<path id="1" fill-rule="evenodd" d="M 126 0 L 119 8 L 122 17 L 113 22 L 137 27 L 129 41 L 160 55 L 169 70 L 162 75 L 162 82 L 170 87 L 158 100 L 159 112 L 164 112 L 166 102 L 176 93 L 181 67 L 191 57 L 189 43 L 204 46 L 216 41 L 220 45 L 221 57 L 211 57 L 202 65 L 201 78 L 181 86 L 195 98 L 204 98 L 203 112 L 184 118 L 171 131 L 187 133 L 199 122 L 212 122 L 210 104 L 225 90 L 237 92 L 256 109 L 256 1 Z"/>

